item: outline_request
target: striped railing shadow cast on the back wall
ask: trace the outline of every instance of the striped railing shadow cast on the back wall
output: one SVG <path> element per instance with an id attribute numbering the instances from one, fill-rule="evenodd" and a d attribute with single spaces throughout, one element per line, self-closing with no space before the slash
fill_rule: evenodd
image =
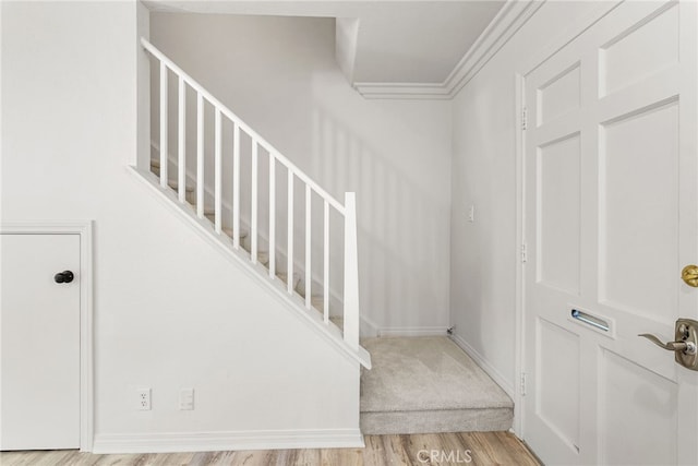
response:
<path id="1" fill-rule="evenodd" d="M 440 270 L 448 264 L 437 263 L 447 244 L 440 244 L 444 231 L 433 222 L 435 211 L 447 211 L 327 108 L 316 106 L 313 120 L 315 175 L 338 199 L 357 193 L 362 315 L 382 328 L 429 321 L 440 302 L 447 303 L 448 278 Z"/>

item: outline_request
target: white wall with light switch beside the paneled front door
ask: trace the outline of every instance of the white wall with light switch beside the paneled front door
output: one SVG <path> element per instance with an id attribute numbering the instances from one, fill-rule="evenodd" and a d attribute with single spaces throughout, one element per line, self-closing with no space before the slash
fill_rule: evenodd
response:
<path id="1" fill-rule="evenodd" d="M 453 106 L 450 316 L 497 382 L 513 393 L 516 271 L 516 73 L 529 71 L 571 20 L 598 2 L 545 2 L 457 95 Z M 474 205 L 474 222 L 468 210 Z"/>

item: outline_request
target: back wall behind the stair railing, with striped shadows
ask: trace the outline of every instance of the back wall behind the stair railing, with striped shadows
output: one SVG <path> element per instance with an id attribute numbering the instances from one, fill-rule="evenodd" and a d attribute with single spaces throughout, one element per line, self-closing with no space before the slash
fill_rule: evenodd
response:
<path id="1" fill-rule="evenodd" d="M 151 39 L 337 199 L 357 192 L 364 316 L 448 325 L 450 103 L 363 99 L 332 19 L 153 12 Z"/>

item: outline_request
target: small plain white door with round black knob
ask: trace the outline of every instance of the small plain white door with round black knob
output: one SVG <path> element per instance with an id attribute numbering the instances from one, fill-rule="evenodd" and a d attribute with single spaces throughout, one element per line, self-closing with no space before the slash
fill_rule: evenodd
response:
<path id="1" fill-rule="evenodd" d="M 0 235 L 0 450 L 80 447 L 80 235 Z"/>

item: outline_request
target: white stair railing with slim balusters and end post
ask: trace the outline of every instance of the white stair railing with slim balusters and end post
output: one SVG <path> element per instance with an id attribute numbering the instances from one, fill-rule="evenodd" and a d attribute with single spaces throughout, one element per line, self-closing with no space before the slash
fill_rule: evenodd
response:
<path id="1" fill-rule="evenodd" d="M 246 134 L 251 140 L 251 217 L 250 217 L 250 261 L 252 264 L 257 263 L 258 259 L 258 200 L 257 200 L 257 177 L 268 176 L 269 187 L 269 226 L 268 226 L 268 275 L 270 279 L 276 278 L 277 274 L 277 243 L 276 243 L 276 171 L 277 166 L 287 169 L 287 244 L 286 244 L 286 280 L 287 291 L 293 295 L 294 279 L 294 226 L 293 226 L 293 193 L 294 183 L 298 181 L 304 187 L 305 192 L 305 258 L 304 258 L 304 286 L 305 300 L 304 306 L 312 309 L 313 294 L 313 270 L 312 270 L 312 196 L 320 196 L 323 202 L 323 270 L 321 278 L 322 298 L 323 298 L 323 320 L 325 324 L 329 323 L 329 217 L 332 210 L 338 213 L 344 219 L 344 340 L 352 349 L 359 348 L 359 270 L 358 270 L 358 249 L 357 249 L 357 214 L 356 214 L 356 196 L 352 192 L 345 193 L 345 203 L 341 204 L 308 175 L 301 171 L 293 163 L 280 154 L 272 144 L 262 138 L 256 131 L 244 123 L 237 115 L 234 115 L 227 106 L 214 97 L 193 77 L 180 69 L 172 60 L 166 57 L 160 50 L 153 46 L 145 38 L 141 38 L 141 44 L 153 58 L 159 63 L 159 177 L 160 187 L 169 189 L 168 174 L 168 74 L 173 73 L 178 77 L 178 157 L 177 157 L 177 190 L 178 201 L 186 203 L 186 86 L 196 93 L 196 176 L 195 176 L 195 212 L 198 218 L 205 217 L 205 190 L 204 190 L 204 104 L 207 101 L 214 108 L 214 228 L 218 235 L 222 234 L 222 123 L 224 119 L 230 121 L 233 126 L 233 150 L 232 150 L 232 247 L 240 250 L 240 136 L 241 133 Z M 169 70 L 169 71 L 168 71 Z M 268 174 L 262 174 L 258 170 L 258 150 L 262 147 L 269 155 Z M 144 167 L 141 167 L 144 168 Z M 149 167 L 148 167 L 149 168 Z M 281 207 L 281 206 L 279 206 Z M 298 258 L 301 259 L 301 258 Z"/>

